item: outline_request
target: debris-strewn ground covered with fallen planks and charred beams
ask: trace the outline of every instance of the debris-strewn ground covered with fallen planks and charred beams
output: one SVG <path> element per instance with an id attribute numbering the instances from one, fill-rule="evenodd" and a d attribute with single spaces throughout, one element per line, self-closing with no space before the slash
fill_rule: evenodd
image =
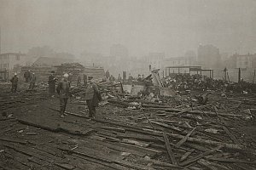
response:
<path id="1" fill-rule="evenodd" d="M 26 86 L 9 94 L 6 87 L 0 169 L 256 168 L 255 94 L 216 92 L 193 111 L 186 95 L 161 104 L 108 99 L 90 120 L 83 96 L 69 99 L 61 118 L 57 95 Z"/>

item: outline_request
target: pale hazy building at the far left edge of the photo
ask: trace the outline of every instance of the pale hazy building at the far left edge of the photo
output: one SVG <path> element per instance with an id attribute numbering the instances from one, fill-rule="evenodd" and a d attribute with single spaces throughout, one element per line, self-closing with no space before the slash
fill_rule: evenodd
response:
<path id="1" fill-rule="evenodd" d="M 31 64 L 31 59 L 26 54 L 6 53 L 0 54 L 0 70 L 13 71 L 15 67 Z"/>

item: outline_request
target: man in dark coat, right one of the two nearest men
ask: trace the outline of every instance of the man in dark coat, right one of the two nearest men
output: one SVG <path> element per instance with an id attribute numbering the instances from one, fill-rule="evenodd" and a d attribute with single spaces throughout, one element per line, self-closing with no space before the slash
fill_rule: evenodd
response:
<path id="1" fill-rule="evenodd" d="M 99 101 L 102 100 L 102 96 L 97 88 L 95 82 L 92 81 L 93 77 L 88 77 L 88 85 L 85 89 L 85 99 L 86 104 L 89 109 L 89 117 L 96 118 L 96 107 L 98 106 Z"/>

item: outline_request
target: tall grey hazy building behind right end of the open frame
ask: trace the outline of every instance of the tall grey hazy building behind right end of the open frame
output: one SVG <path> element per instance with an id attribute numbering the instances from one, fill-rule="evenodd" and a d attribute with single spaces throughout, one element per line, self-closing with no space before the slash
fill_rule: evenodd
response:
<path id="1" fill-rule="evenodd" d="M 207 69 L 221 67 L 219 49 L 213 45 L 200 45 L 197 50 L 197 62 Z"/>

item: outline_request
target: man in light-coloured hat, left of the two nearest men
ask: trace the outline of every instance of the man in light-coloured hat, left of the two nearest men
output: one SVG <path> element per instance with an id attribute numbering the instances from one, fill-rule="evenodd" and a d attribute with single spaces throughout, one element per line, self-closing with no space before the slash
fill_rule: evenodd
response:
<path id="1" fill-rule="evenodd" d="M 60 95 L 60 113 L 61 118 L 64 118 L 64 113 L 66 111 L 67 106 L 67 99 L 69 98 L 69 88 L 70 88 L 70 82 L 67 80 L 68 74 L 65 73 L 63 79 L 61 82 L 58 83 L 58 86 L 56 88 L 57 93 Z"/>

